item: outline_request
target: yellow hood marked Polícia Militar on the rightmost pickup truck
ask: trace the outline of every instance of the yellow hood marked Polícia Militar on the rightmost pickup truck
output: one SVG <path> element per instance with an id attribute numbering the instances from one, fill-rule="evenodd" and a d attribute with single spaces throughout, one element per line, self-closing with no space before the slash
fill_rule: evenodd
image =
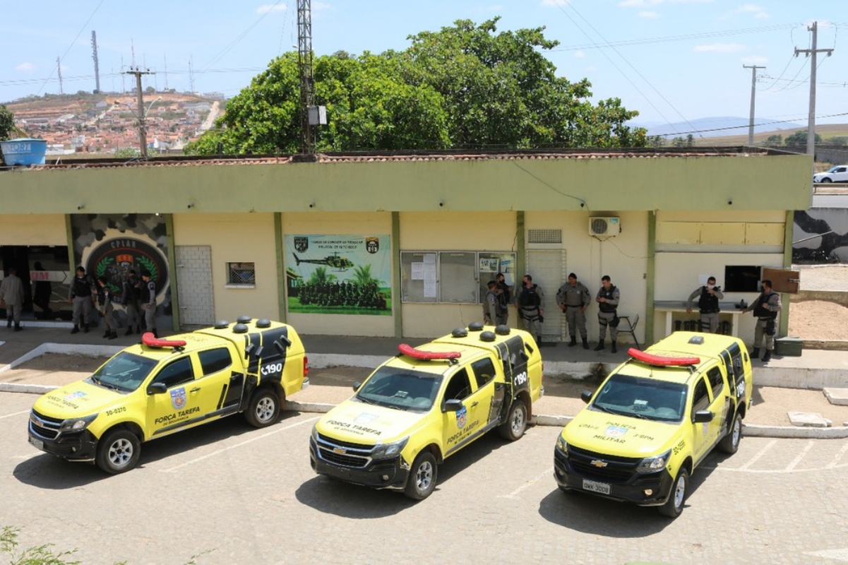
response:
<path id="1" fill-rule="evenodd" d="M 622 457 L 650 457 L 667 451 L 678 422 L 656 422 L 583 408 L 562 435 L 568 445 Z"/>

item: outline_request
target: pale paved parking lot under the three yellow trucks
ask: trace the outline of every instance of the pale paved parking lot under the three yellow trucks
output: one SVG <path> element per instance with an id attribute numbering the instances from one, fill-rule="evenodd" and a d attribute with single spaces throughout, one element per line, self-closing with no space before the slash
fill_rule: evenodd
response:
<path id="1" fill-rule="evenodd" d="M 440 468 L 415 503 L 317 477 L 317 414 L 275 426 L 241 417 L 142 445 L 139 467 L 108 476 L 26 443 L 30 394 L 0 394 L 0 525 L 23 546 L 78 547 L 86 565 L 186 563 L 669 563 L 848 560 L 848 440 L 746 438 L 695 473 L 675 521 L 650 508 L 564 495 L 559 430 L 516 443 L 495 434 Z"/>

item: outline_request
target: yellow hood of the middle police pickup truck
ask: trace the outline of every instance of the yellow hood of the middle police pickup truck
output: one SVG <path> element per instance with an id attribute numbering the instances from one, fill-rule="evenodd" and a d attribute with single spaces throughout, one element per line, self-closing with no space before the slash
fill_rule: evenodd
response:
<path id="1" fill-rule="evenodd" d="M 410 434 L 427 412 L 403 411 L 345 400 L 315 425 L 320 434 L 354 444 L 391 443 Z"/>

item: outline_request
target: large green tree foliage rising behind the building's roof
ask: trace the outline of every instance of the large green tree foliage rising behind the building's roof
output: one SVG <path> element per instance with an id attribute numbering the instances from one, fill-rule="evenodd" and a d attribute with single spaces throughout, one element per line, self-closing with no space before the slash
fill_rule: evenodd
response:
<path id="1" fill-rule="evenodd" d="M 644 146 L 619 98 L 589 101 L 587 79 L 555 75 L 544 27 L 497 32 L 498 19 L 458 20 L 410 36 L 410 48 L 315 59 L 316 103 L 326 106 L 318 151 Z M 227 103 L 192 154 L 297 153 L 297 53 L 274 59 Z"/>

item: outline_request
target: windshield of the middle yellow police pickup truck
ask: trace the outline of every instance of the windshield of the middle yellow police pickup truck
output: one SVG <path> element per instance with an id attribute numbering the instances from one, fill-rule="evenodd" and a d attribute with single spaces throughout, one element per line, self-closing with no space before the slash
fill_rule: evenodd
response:
<path id="1" fill-rule="evenodd" d="M 436 400 L 441 383 L 441 375 L 382 366 L 362 385 L 355 397 L 369 404 L 399 410 L 428 411 Z"/>

